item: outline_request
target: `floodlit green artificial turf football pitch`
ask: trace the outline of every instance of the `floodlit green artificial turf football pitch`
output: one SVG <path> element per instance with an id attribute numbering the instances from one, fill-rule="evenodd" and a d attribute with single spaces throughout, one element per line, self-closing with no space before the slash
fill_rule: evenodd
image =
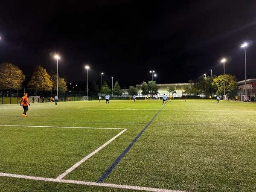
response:
<path id="1" fill-rule="evenodd" d="M 256 191 L 256 103 L 0 105 L 0 191 Z M 10 126 L 11 125 L 11 126 Z"/>

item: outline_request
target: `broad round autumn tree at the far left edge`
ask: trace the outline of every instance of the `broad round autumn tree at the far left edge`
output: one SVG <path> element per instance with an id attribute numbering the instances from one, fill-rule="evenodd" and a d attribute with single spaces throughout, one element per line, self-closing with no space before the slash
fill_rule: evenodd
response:
<path id="1" fill-rule="evenodd" d="M 1 89 L 20 89 L 25 80 L 25 75 L 19 67 L 11 63 L 0 64 L 0 87 Z"/>

